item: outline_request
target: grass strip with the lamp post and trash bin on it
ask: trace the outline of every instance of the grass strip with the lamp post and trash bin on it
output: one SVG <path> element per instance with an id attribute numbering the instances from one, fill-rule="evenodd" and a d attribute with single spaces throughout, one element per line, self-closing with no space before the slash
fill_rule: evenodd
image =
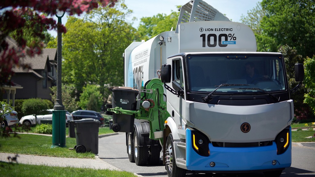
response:
<path id="1" fill-rule="evenodd" d="M 75 138 L 66 138 L 66 147 L 51 148 L 51 145 L 51 136 L 18 134 L 18 137 L 11 135 L 9 138 L 2 138 L 0 135 L 0 152 L 69 158 L 94 158 L 95 156 L 91 152 L 76 153 L 69 150 L 76 145 Z"/>

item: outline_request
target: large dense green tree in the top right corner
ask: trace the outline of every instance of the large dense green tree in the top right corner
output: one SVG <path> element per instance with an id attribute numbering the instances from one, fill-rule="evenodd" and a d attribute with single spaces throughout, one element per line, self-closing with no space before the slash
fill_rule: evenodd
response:
<path id="1" fill-rule="evenodd" d="M 271 52 L 289 45 L 303 57 L 315 54 L 315 1 L 262 0 L 261 5 L 266 11 L 261 20 L 263 35 L 274 41 L 269 43 Z"/>

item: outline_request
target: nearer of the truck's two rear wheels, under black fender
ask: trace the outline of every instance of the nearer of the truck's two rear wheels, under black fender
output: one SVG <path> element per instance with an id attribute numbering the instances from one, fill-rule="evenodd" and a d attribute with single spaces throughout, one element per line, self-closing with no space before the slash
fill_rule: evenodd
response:
<path id="1" fill-rule="evenodd" d="M 133 149 L 136 165 L 138 166 L 145 165 L 148 162 L 148 146 L 142 147 L 138 146 L 138 138 L 136 131 L 134 132 Z"/>

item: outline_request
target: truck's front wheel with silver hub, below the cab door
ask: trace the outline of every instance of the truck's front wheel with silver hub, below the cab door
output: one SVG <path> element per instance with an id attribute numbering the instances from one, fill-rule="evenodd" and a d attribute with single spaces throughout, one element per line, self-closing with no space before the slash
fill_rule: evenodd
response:
<path id="1" fill-rule="evenodd" d="M 169 177 L 181 177 L 186 175 L 186 170 L 179 168 L 176 165 L 175 151 L 173 151 L 173 135 L 170 133 L 166 140 L 166 161 L 165 168 L 167 176 Z"/>

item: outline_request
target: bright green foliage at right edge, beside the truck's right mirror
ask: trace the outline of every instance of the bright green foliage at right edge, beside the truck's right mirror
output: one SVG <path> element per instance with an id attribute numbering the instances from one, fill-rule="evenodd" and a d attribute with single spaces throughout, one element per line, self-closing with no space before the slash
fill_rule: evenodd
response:
<path id="1" fill-rule="evenodd" d="M 315 55 L 312 58 L 307 57 L 304 61 L 305 67 L 305 87 L 304 103 L 308 104 L 315 115 Z"/>

